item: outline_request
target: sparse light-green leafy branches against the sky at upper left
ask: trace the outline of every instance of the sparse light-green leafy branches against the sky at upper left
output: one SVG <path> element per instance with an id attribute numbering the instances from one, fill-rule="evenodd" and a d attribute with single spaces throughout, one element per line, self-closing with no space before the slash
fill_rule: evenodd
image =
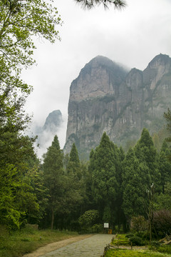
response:
<path id="1" fill-rule="evenodd" d="M 31 86 L 20 79 L 20 74 L 21 69 L 35 63 L 33 36 L 51 43 L 59 39 L 56 25 L 61 19 L 50 3 L 43 0 L 0 1 L 0 134 L 24 129 L 29 120 L 23 107 Z"/>

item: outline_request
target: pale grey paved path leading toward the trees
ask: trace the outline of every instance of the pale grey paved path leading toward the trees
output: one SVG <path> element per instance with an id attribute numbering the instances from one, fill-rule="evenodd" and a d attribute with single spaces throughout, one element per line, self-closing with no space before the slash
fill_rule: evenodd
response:
<path id="1" fill-rule="evenodd" d="M 100 257 L 103 255 L 104 247 L 111 242 L 112 238 L 113 235 L 98 234 L 40 257 Z"/>

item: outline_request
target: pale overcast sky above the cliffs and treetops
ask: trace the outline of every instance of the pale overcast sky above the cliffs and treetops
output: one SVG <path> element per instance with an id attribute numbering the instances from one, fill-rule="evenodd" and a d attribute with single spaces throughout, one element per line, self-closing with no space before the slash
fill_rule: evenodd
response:
<path id="1" fill-rule="evenodd" d="M 53 110 L 63 114 L 66 138 L 69 89 L 73 79 L 95 56 L 102 55 L 129 68 L 145 69 L 157 54 L 171 56 L 171 0 L 127 0 L 122 11 L 98 6 L 83 10 L 73 0 L 54 0 L 63 26 L 61 41 L 36 41 L 37 66 L 24 71 L 26 83 L 33 86 L 26 109 L 33 124 L 43 126 Z"/>

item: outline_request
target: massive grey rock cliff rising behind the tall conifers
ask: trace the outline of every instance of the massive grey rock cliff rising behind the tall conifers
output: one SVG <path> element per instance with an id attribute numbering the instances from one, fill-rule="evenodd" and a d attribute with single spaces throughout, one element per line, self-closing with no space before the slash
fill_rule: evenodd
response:
<path id="1" fill-rule="evenodd" d="M 143 127 L 150 133 L 163 124 L 170 107 L 171 59 L 160 54 L 144 71 L 126 71 L 110 59 L 97 56 L 71 84 L 65 152 L 75 142 L 89 154 L 105 131 L 118 145 L 138 139 Z"/>

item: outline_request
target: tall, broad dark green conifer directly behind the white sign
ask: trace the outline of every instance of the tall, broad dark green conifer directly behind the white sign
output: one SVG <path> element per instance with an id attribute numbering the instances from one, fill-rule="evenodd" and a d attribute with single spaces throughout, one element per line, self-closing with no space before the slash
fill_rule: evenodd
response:
<path id="1" fill-rule="evenodd" d="M 114 202 L 118 191 L 115 177 L 115 153 L 113 143 L 103 133 L 100 145 L 91 152 L 92 191 L 101 221 L 114 223 Z"/>

